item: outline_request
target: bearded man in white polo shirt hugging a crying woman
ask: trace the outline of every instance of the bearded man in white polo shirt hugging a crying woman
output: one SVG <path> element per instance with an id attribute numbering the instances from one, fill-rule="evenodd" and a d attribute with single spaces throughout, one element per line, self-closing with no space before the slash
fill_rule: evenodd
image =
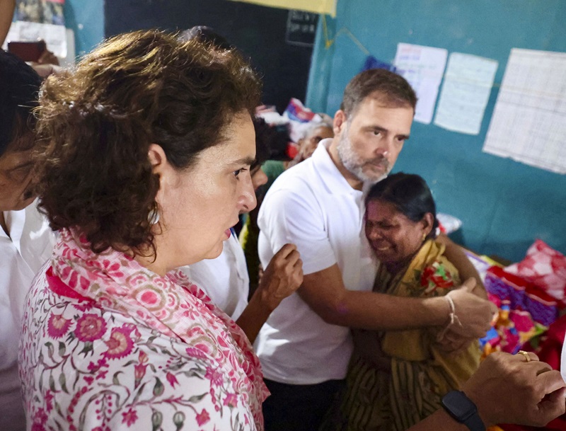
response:
<path id="1" fill-rule="evenodd" d="M 263 408 L 266 431 L 318 429 L 346 375 L 350 328 L 450 321 L 444 297 L 371 292 L 375 263 L 362 229 L 364 190 L 393 167 L 409 137 L 415 104 L 414 91 L 396 74 L 372 69 L 355 76 L 334 117 L 335 137 L 279 176 L 265 196 L 258 217 L 262 264 L 282 244 L 294 243 L 304 269 L 303 285 L 272 313 L 255 343 L 272 393 Z M 454 244 L 447 248 L 463 279 L 477 275 Z M 485 335 L 490 327 L 492 306 L 469 290 L 452 297 L 461 326 L 449 328 L 447 347 Z"/>

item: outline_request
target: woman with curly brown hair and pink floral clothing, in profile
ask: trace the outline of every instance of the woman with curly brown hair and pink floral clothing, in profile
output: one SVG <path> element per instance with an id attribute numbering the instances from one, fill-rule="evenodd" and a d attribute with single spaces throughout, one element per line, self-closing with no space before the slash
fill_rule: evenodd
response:
<path id="1" fill-rule="evenodd" d="M 59 241 L 26 301 L 31 429 L 262 429 L 246 335 L 175 271 L 216 258 L 255 207 L 259 95 L 236 52 L 158 31 L 47 80 L 39 195 Z"/>

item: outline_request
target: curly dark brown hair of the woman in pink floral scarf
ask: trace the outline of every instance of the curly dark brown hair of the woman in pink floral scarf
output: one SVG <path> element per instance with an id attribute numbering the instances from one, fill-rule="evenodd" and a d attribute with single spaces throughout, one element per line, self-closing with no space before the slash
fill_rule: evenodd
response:
<path id="1" fill-rule="evenodd" d="M 258 77 L 234 50 L 157 30 L 104 42 L 40 94 L 38 192 L 52 229 L 78 229 L 95 253 L 155 253 L 148 217 L 159 178 L 149 145 L 189 168 L 259 100 Z"/>

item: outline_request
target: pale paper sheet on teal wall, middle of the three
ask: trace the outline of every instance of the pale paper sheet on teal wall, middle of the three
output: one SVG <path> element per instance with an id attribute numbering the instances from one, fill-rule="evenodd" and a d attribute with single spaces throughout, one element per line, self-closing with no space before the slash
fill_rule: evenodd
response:
<path id="1" fill-rule="evenodd" d="M 495 60 L 452 52 L 434 124 L 453 132 L 479 134 L 496 71 Z"/>

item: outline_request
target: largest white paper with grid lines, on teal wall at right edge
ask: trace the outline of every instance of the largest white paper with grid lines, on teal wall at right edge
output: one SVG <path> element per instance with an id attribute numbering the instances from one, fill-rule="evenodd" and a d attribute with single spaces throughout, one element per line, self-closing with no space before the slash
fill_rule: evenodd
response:
<path id="1" fill-rule="evenodd" d="M 483 151 L 566 173 L 566 53 L 511 50 Z"/>

